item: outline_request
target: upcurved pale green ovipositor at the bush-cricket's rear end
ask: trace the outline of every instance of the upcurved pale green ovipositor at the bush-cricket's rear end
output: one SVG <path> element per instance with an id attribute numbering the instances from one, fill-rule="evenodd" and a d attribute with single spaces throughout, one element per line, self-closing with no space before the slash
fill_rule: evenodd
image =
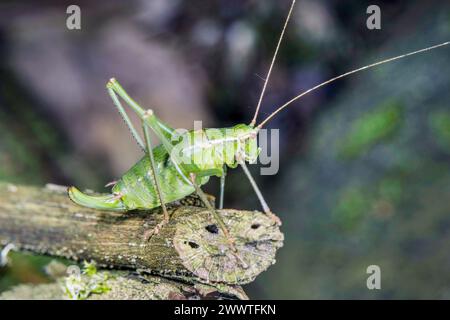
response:
<path id="1" fill-rule="evenodd" d="M 69 198 L 83 207 L 98 210 L 125 211 L 126 207 L 122 200 L 113 194 L 108 195 L 87 195 L 75 187 L 69 187 Z"/>

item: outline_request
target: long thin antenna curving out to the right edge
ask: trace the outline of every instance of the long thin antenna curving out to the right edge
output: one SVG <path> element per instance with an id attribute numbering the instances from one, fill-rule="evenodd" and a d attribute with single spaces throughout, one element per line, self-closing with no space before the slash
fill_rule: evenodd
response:
<path id="1" fill-rule="evenodd" d="M 311 89 L 308 89 L 308 90 L 306 90 L 306 91 L 300 93 L 298 96 L 292 98 L 291 100 L 289 100 L 288 102 L 286 102 L 285 104 L 283 104 L 281 107 L 279 107 L 278 109 L 276 109 L 276 110 L 275 110 L 274 112 L 272 112 L 272 113 L 271 113 L 264 121 L 262 121 L 262 122 L 257 126 L 257 129 L 261 129 L 261 128 L 262 128 L 268 121 L 270 121 L 270 119 L 272 119 L 277 113 L 279 113 L 280 111 L 282 111 L 284 108 L 288 107 L 288 106 L 289 106 L 291 103 L 293 103 L 294 101 L 300 99 L 301 97 L 307 95 L 308 93 L 311 93 L 311 92 L 313 92 L 313 91 L 315 91 L 315 90 L 317 90 L 317 89 L 319 89 L 319 88 L 321 88 L 321 87 L 323 87 L 323 86 L 325 86 L 325 85 L 327 85 L 327 84 L 329 84 L 329 83 L 331 83 L 331 82 L 334 82 L 334 81 L 336 81 L 336 80 L 339 80 L 339 79 L 344 78 L 344 77 L 346 77 L 346 76 L 349 76 L 349 75 L 351 75 L 351 74 L 354 74 L 354 73 L 357 73 L 357 72 L 360 72 L 360 71 L 363 71 L 363 70 L 366 70 L 366 69 L 370 69 L 370 68 L 379 66 L 379 65 L 381 65 L 381 64 L 385 64 L 385 63 L 388 63 L 388 62 L 391 62 L 391 61 L 394 61 L 394 60 L 399 60 L 399 59 L 402 59 L 402 58 L 406 58 L 406 57 L 409 57 L 409 56 L 412 56 L 412 55 L 415 55 L 415 54 L 418 54 L 418 53 L 430 51 L 430 50 L 433 50 L 433 49 L 436 49 L 436 48 L 439 48 L 439 47 L 446 46 L 446 45 L 448 45 L 448 44 L 450 44 L 450 41 L 443 42 L 443 43 L 440 43 L 440 44 L 437 44 L 437 45 L 434 45 L 434 46 L 431 46 L 431 47 L 427 47 L 427 48 L 424 48 L 424 49 L 420 49 L 420 50 L 417 50 L 417 51 L 405 53 L 405 54 L 402 54 L 402 55 L 400 55 L 400 56 L 396 56 L 396 57 L 389 58 L 389 59 L 386 59 L 386 60 L 378 61 L 378 62 L 369 64 L 369 65 L 367 65 L 367 66 L 364 66 L 364 67 L 361 67 L 361 68 L 354 69 L 354 70 L 352 70 L 352 71 L 346 72 L 346 73 L 344 73 L 344 74 L 341 74 L 340 76 L 331 78 L 331 79 L 329 79 L 329 80 L 327 80 L 327 81 L 325 81 L 325 82 L 322 82 L 322 83 L 320 83 L 320 84 L 318 84 L 318 85 L 312 87 Z"/>

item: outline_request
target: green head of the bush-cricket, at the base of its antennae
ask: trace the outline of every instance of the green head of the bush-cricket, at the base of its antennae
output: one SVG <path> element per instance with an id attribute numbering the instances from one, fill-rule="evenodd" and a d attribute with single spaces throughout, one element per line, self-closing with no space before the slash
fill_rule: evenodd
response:
<path id="1" fill-rule="evenodd" d="M 255 163 L 261 149 L 258 148 L 258 129 L 247 124 L 238 124 L 233 127 L 239 141 L 238 152 L 246 162 Z"/>

